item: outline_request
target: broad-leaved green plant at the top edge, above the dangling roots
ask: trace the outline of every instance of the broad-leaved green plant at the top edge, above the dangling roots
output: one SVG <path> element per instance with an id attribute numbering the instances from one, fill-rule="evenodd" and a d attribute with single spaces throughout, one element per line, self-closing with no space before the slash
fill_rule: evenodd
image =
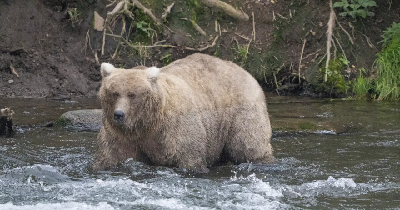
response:
<path id="1" fill-rule="evenodd" d="M 340 12 L 340 16 L 350 15 L 352 18 L 356 16 L 361 16 L 366 18 L 366 16 L 371 16 L 372 12 L 368 11 L 370 7 L 376 6 L 376 2 L 373 0 L 342 0 L 340 2 L 335 2 L 334 7 L 342 7 L 344 12 Z"/>

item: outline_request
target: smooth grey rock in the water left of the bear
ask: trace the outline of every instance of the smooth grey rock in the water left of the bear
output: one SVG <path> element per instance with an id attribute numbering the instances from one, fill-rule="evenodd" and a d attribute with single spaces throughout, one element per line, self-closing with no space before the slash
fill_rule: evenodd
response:
<path id="1" fill-rule="evenodd" d="M 78 131 L 99 131 L 102 126 L 102 114 L 101 109 L 68 111 L 54 122 L 54 127 Z"/>

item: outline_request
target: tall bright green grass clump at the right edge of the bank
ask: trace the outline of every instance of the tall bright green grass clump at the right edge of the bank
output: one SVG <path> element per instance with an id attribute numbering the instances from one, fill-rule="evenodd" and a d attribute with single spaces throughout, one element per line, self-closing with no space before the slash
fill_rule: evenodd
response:
<path id="1" fill-rule="evenodd" d="M 400 37 L 394 36 L 390 45 L 378 53 L 374 66 L 378 70 L 375 82 L 377 100 L 400 99 Z"/>

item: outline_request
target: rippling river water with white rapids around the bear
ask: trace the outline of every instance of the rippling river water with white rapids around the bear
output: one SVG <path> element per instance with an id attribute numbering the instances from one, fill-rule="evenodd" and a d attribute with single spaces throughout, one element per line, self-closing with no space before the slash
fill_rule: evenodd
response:
<path id="1" fill-rule="evenodd" d="M 13 136 L 0 136 L 0 209 L 400 209 L 400 103 L 269 97 L 278 118 L 347 125 L 344 133 L 274 132 L 277 164 L 193 174 L 127 160 L 92 173 L 96 132 L 46 127 L 96 100 L 0 98 Z"/>

